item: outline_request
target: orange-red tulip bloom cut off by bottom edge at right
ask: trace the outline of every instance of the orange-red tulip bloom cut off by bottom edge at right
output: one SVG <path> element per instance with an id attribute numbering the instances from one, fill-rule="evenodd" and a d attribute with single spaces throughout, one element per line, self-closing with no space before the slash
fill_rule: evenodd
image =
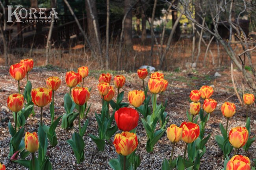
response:
<path id="1" fill-rule="evenodd" d="M 250 170 L 250 159 L 243 155 L 234 155 L 228 161 L 226 170 Z"/>

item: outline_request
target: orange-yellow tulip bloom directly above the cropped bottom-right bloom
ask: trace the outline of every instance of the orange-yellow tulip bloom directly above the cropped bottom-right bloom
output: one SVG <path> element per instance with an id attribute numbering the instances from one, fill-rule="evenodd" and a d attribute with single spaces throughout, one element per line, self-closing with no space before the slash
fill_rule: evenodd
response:
<path id="1" fill-rule="evenodd" d="M 232 128 L 229 132 L 229 142 L 234 148 L 243 147 L 248 141 L 249 133 L 245 127 Z"/>

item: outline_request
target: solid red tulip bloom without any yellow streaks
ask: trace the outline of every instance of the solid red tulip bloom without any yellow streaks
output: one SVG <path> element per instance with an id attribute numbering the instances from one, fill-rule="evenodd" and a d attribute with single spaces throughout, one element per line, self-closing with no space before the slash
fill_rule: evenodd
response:
<path id="1" fill-rule="evenodd" d="M 129 132 L 138 125 L 139 113 L 133 108 L 120 108 L 115 112 L 115 121 L 120 130 Z"/>

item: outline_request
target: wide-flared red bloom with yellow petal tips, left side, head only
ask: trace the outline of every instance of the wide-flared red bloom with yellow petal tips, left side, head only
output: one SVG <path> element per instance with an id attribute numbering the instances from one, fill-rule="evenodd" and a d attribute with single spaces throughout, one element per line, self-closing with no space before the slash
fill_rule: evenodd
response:
<path id="1" fill-rule="evenodd" d="M 35 105 L 44 107 L 52 101 L 52 90 L 47 88 L 34 88 L 31 91 L 31 97 Z"/>

